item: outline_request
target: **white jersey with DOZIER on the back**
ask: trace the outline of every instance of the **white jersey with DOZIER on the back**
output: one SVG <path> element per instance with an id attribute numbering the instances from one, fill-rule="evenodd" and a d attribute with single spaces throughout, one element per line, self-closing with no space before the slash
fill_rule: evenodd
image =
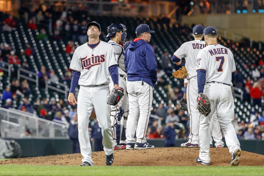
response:
<path id="1" fill-rule="evenodd" d="M 187 79 L 191 79 L 192 77 L 197 76 L 195 63 L 197 59 L 198 52 L 205 48 L 205 42 L 202 40 L 192 40 L 189 42 L 185 42 L 181 45 L 179 49 L 175 51 L 173 55 L 181 59 L 182 57 L 185 57 L 185 66 L 188 72 Z"/>

